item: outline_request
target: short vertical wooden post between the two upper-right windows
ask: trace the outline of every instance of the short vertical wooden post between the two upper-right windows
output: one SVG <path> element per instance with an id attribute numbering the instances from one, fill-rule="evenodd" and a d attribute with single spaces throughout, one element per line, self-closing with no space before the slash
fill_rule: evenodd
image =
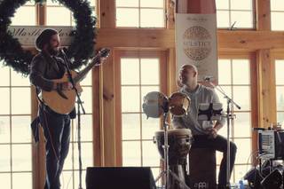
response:
<path id="1" fill-rule="evenodd" d="M 256 0 L 256 29 L 271 30 L 270 0 Z"/>

